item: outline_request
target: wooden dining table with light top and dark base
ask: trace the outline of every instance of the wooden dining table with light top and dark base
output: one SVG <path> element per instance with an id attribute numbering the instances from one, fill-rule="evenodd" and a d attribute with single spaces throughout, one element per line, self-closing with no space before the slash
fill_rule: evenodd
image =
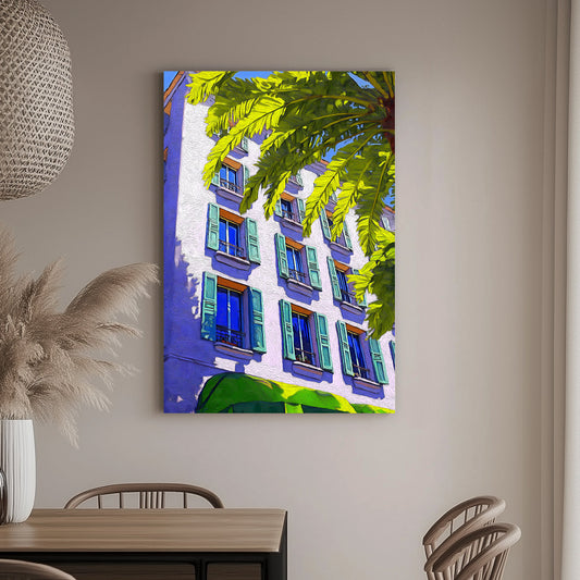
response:
<path id="1" fill-rule="evenodd" d="M 286 580 L 286 519 L 268 508 L 35 509 L 0 526 L 0 558 L 50 564 L 79 580 L 211 580 L 220 565 L 229 578 L 254 566 L 258 579 Z"/>

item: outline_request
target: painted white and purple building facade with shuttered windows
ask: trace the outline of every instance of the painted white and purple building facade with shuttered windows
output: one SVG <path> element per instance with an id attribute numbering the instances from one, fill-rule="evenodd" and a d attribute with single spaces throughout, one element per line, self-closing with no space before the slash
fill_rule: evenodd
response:
<path id="1" fill-rule="evenodd" d="M 303 237 L 301 217 L 325 165 L 305 168 L 266 220 L 239 212 L 261 138 L 230 153 L 211 186 L 203 166 L 209 103 L 185 101 L 188 74 L 164 96 L 165 411 L 195 412 L 206 382 L 223 372 L 313 388 L 351 404 L 395 408 L 395 336 L 367 340 L 365 303 L 347 281 L 366 258 L 355 215 L 330 239 L 332 201 Z M 385 210 L 385 227 L 395 214 Z"/>

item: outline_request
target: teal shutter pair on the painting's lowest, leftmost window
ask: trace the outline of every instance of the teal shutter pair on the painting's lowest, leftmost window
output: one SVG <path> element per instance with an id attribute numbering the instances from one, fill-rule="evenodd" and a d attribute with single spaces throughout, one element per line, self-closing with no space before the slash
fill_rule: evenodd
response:
<path id="1" fill-rule="evenodd" d="M 257 353 L 266 353 L 263 329 L 264 311 L 262 293 L 248 288 L 248 318 L 250 347 Z M 218 276 L 203 272 L 203 291 L 201 296 L 201 338 L 215 341 L 215 318 L 218 314 Z M 292 320 L 291 320 L 292 322 Z"/>

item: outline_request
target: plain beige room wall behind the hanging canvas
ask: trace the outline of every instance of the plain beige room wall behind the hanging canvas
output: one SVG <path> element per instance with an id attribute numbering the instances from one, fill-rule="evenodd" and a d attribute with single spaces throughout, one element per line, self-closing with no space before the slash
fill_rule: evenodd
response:
<path id="1" fill-rule="evenodd" d="M 411 580 L 429 525 L 492 493 L 523 531 L 509 578 L 544 580 L 553 3 L 45 0 L 72 49 L 75 148 L 55 184 L 3 202 L 0 221 L 23 269 L 65 258 L 63 299 L 107 268 L 161 261 L 162 70 L 396 71 L 398 365 L 394 417 L 164 416 L 158 288 L 145 337 L 121 353 L 141 372 L 116 381 L 110 414 L 83 411 L 81 448 L 37 427 L 37 505 L 192 481 L 227 506 L 286 507 L 291 580 Z"/>

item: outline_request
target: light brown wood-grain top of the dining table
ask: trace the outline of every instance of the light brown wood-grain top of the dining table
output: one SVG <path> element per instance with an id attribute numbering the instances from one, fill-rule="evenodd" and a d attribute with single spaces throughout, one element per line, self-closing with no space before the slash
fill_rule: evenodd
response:
<path id="1" fill-rule="evenodd" d="M 281 550 L 284 509 L 35 509 L 0 526 L 9 552 L 247 552 Z"/>

